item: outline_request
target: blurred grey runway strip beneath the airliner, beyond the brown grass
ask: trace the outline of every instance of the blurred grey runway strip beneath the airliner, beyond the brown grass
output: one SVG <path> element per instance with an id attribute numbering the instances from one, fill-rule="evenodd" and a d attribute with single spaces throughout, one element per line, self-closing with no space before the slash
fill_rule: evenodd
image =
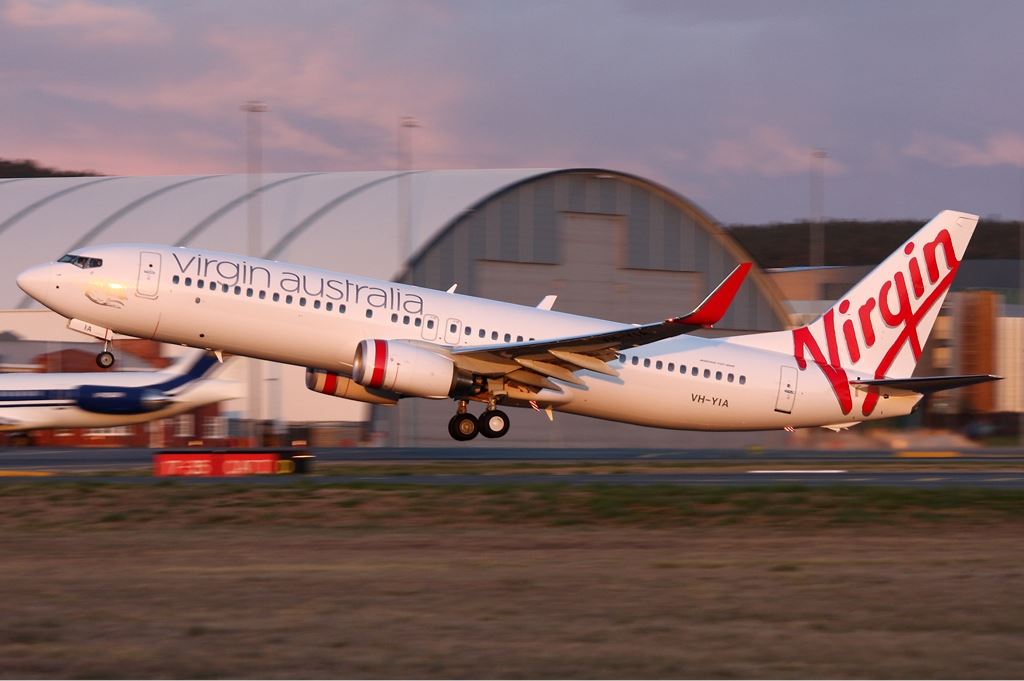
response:
<path id="1" fill-rule="evenodd" d="M 180 450 L 179 450 L 180 451 Z M 157 483 L 168 478 L 147 474 L 155 450 L 0 450 L 0 483 L 97 481 Z M 316 457 L 308 476 L 173 478 L 190 484 L 245 481 L 263 484 L 631 484 L 631 485 L 845 485 L 898 487 L 1024 488 L 1024 454 L 1012 450 L 964 452 L 921 451 L 746 451 L 746 450 L 537 450 L 537 449 L 346 449 L 311 450 Z M 430 463 L 556 464 L 557 471 L 507 470 L 437 472 L 382 471 L 382 474 L 338 474 L 343 462 L 365 464 Z M 615 463 L 623 468 L 614 469 Z M 642 469 L 643 464 L 664 470 Z M 601 464 L 590 471 L 573 466 Z M 666 465 L 670 464 L 670 465 Z M 671 465 L 675 464 L 675 465 Z M 967 469 L 965 469 L 967 464 Z M 971 464 L 978 464 L 971 469 Z M 907 470 L 908 465 L 912 470 Z M 983 466 L 982 466 L 983 465 Z M 687 467 L 699 470 L 687 470 Z M 609 472 L 610 471 L 610 472 Z M 112 474 L 113 473 L 113 474 Z M 133 474 L 136 473 L 136 474 Z M 326 473 L 326 474 L 325 474 Z"/>

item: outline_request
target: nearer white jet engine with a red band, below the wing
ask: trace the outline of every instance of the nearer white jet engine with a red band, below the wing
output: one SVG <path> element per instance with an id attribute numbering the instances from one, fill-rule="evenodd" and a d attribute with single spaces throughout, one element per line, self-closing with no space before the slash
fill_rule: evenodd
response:
<path id="1" fill-rule="evenodd" d="M 371 390 L 415 397 L 449 397 L 472 387 L 450 357 L 401 341 L 365 340 L 355 349 L 352 380 Z"/>

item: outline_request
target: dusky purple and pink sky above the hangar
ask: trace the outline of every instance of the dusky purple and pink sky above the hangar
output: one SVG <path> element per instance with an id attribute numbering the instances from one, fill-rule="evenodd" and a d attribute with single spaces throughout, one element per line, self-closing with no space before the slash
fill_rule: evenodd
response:
<path id="1" fill-rule="evenodd" d="M 724 223 L 1024 212 L 1024 3 L 0 0 L 0 158 L 598 167 Z"/>

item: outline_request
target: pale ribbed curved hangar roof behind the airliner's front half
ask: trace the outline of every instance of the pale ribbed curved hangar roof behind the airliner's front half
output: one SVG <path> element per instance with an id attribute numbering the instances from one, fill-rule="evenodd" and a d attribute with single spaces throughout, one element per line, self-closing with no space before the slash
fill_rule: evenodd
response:
<path id="1" fill-rule="evenodd" d="M 253 207 L 263 255 L 391 278 L 401 204 L 418 248 L 453 215 L 538 170 L 272 173 L 0 180 L 0 306 L 14 274 L 91 244 L 142 242 L 248 252 Z"/>

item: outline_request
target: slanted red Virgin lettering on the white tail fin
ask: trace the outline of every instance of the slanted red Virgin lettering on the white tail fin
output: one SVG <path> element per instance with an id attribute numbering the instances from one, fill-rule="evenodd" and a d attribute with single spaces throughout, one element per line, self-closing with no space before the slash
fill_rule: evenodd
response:
<path id="1" fill-rule="evenodd" d="M 863 359 L 867 363 L 865 372 L 871 369 L 873 377 L 881 379 L 886 377 L 907 343 L 914 359 L 920 358 L 928 330 L 925 330 L 925 338 L 921 338 L 919 325 L 935 303 L 945 296 L 959 268 L 961 261 L 946 228 L 921 249 L 924 271 L 914 249 L 913 241 L 907 242 L 903 247 L 903 253 L 909 256 L 905 268 L 883 281 L 873 295 L 862 300 L 845 299 L 810 326 L 793 330 L 793 356 L 797 365 L 801 370 L 807 369 L 806 355 L 810 355 L 831 383 L 844 415 L 853 410 L 853 392 L 844 360 L 847 367 L 853 368 Z M 940 251 L 943 255 L 942 267 L 938 259 Z M 854 289 L 854 294 L 858 293 L 858 288 Z M 822 339 L 815 337 L 815 332 L 823 333 L 827 356 L 822 351 Z M 871 365 L 874 365 L 873 368 Z M 869 390 L 861 408 L 864 416 L 874 411 L 878 401 L 878 391 Z"/>

